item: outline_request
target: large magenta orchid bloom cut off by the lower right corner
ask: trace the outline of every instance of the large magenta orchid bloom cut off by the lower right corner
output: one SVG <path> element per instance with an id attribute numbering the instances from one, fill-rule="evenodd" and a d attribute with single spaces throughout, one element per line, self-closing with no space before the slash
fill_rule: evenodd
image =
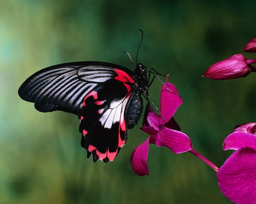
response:
<path id="1" fill-rule="evenodd" d="M 236 150 L 217 172 L 221 192 L 235 203 L 256 203 L 256 123 L 242 124 L 223 143 Z"/>

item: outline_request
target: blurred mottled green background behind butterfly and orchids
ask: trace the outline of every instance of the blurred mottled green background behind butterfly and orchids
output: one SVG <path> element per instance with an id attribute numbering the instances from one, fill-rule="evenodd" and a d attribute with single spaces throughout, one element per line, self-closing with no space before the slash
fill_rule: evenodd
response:
<path id="1" fill-rule="evenodd" d="M 256 37 L 254 1 L 0 0 L 0 203 L 231 203 L 216 173 L 195 156 L 150 146 L 150 176 L 135 175 L 130 154 L 147 135 L 139 124 L 114 162 L 93 163 L 80 146 L 79 120 L 40 113 L 17 91 L 31 74 L 72 61 L 139 62 L 170 74 L 184 103 L 175 114 L 193 147 L 217 165 L 222 141 L 255 121 L 255 76 L 201 75 L 242 53 Z M 248 58 L 255 54 L 245 54 Z M 156 80 L 151 97 L 159 102 Z"/>

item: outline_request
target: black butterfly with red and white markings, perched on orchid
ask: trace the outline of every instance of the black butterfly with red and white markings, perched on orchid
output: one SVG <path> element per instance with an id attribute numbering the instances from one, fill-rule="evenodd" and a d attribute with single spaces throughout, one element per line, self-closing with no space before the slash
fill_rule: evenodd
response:
<path id="1" fill-rule="evenodd" d="M 147 74 L 149 73 L 149 74 Z M 150 69 L 130 71 L 106 62 L 71 62 L 47 67 L 28 78 L 18 94 L 40 112 L 78 115 L 81 146 L 98 159 L 113 161 L 127 141 L 127 129 L 141 117 Z"/>

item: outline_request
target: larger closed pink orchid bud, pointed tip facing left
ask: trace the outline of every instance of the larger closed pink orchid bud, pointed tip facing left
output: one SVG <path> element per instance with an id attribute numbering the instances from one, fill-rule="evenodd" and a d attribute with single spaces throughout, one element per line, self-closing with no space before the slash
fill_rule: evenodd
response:
<path id="1" fill-rule="evenodd" d="M 242 54 L 235 54 L 228 59 L 214 63 L 205 71 L 203 76 L 219 80 L 245 77 L 251 71 L 256 71 L 256 68 L 251 63 L 256 63 L 256 59 L 247 59 Z"/>

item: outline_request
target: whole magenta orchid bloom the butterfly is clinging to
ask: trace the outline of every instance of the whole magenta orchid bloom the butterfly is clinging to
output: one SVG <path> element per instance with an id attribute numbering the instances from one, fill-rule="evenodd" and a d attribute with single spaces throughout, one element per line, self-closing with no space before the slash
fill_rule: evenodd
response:
<path id="1" fill-rule="evenodd" d="M 147 166 L 149 143 L 168 147 L 175 154 L 192 149 L 191 140 L 181 133 L 173 118 L 181 104 L 182 100 L 176 87 L 171 83 L 164 83 L 160 94 L 160 116 L 147 105 L 141 130 L 150 137 L 131 154 L 131 167 L 137 175 L 149 175 Z"/>

